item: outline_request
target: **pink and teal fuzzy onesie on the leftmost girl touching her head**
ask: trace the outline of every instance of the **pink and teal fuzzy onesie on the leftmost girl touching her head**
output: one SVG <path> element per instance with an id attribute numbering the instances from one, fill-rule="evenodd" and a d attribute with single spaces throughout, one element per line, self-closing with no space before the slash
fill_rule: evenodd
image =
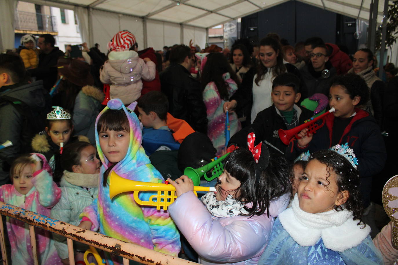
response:
<path id="1" fill-rule="evenodd" d="M 33 173 L 31 190 L 23 195 L 15 189 L 14 185 L 5 184 L 0 187 L 0 201 L 33 211 L 39 215 L 50 216 L 50 208 L 59 201 L 61 190 L 53 182 L 52 171 L 45 156 L 38 153 L 32 153 L 32 155 L 36 155 L 43 162 L 43 166 L 41 170 Z M 12 264 L 33 264 L 28 225 L 17 219 L 7 217 L 7 230 L 12 250 Z M 35 234 L 39 264 L 62 264 L 55 249 L 54 241 L 51 239 L 51 233 L 44 229 L 35 228 Z"/>

